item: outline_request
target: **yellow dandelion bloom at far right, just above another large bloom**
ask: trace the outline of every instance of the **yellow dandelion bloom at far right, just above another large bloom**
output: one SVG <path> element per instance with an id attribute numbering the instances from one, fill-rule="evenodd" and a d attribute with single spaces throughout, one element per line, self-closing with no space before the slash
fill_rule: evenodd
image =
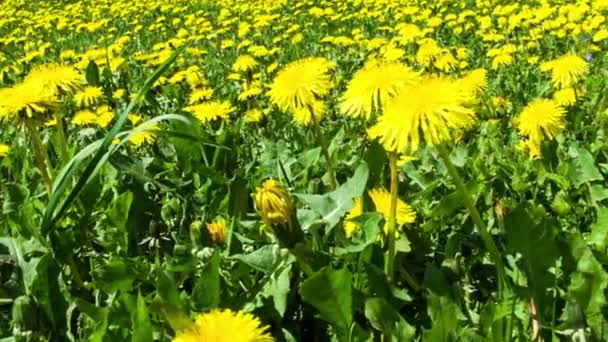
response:
<path id="1" fill-rule="evenodd" d="M 555 88 L 568 88 L 589 72 L 589 65 L 581 57 L 568 53 L 540 65 L 542 71 L 551 72 L 551 82 Z"/>

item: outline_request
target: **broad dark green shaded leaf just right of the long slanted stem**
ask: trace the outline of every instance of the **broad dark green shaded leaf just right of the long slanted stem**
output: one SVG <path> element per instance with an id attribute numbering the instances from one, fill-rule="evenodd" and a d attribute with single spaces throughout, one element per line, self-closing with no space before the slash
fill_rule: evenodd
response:
<path id="1" fill-rule="evenodd" d="M 541 319 L 550 321 L 553 296 L 549 290 L 555 284 L 555 275 L 549 272 L 549 268 L 555 266 L 558 259 L 556 233 L 552 221 L 537 223 L 536 217 L 539 216 L 526 204 L 507 216 L 507 250 L 510 254 L 522 255 L 519 265 L 528 279 L 530 296 L 538 305 Z"/>

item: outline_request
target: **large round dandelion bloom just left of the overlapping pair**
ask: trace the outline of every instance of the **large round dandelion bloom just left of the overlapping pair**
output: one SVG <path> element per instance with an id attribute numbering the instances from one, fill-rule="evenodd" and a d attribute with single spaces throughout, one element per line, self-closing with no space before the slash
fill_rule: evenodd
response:
<path id="1" fill-rule="evenodd" d="M 268 95 L 283 112 L 311 107 L 329 94 L 335 64 L 325 58 L 309 57 L 285 66 L 272 83 Z"/>

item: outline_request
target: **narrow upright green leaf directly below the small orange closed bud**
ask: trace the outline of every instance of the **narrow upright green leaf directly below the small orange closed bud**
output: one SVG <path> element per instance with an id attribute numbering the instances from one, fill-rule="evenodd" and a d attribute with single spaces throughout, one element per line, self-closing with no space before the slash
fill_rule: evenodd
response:
<path id="1" fill-rule="evenodd" d="M 220 304 L 220 253 L 215 250 L 194 285 L 192 299 L 197 309 L 216 308 Z"/>

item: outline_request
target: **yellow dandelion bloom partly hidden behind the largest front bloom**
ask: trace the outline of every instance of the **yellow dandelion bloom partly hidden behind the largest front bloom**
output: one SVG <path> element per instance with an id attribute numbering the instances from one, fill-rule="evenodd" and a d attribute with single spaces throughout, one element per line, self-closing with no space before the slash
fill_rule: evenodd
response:
<path id="1" fill-rule="evenodd" d="M 369 61 L 358 70 L 341 97 L 340 112 L 369 119 L 386 108 L 389 99 L 418 79 L 418 73 L 401 63 Z"/>

